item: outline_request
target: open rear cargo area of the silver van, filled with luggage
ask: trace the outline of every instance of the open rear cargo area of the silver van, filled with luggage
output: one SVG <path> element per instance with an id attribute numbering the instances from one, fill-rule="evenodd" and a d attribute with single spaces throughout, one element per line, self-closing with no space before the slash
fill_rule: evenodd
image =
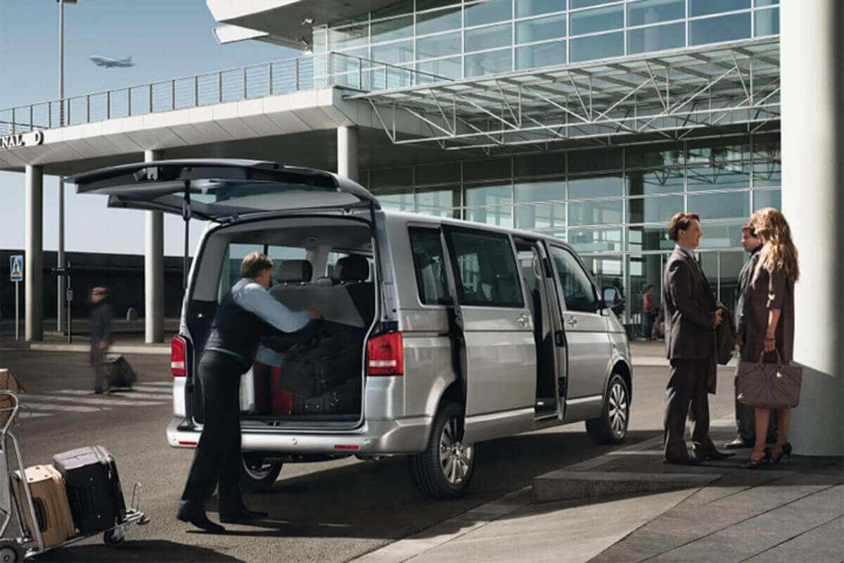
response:
<path id="1" fill-rule="evenodd" d="M 273 259 L 270 295 L 291 311 L 314 307 L 322 318 L 298 333 L 268 328 L 241 377 L 244 430 L 360 423 L 366 334 L 376 313 L 372 233 L 363 217 L 263 219 L 208 232 L 193 268 L 186 317 L 194 346 L 186 406 L 195 422 L 203 421 L 195 366 L 214 312 L 241 278 L 242 259 L 262 252 Z"/>

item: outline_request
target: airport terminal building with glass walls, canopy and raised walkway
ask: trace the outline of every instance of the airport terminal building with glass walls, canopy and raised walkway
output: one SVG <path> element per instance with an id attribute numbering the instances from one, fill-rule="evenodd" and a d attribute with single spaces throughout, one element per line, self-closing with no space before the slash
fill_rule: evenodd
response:
<path id="1" fill-rule="evenodd" d="M 221 43 L 303 53 L 0 111 L 13 133 L 0 170 L 26 175 L 28 271 L 53 265 L 36 218 L 45 173 L 143 158 L 274 160 L 339 171 L 384 208 L 560 236 L 599 284 L 623 288 L 637 336 L 641 292 L 661 288 L 674 247 L 673 214 L 701 215 L 701 265 L 733 307 L 740 227 L 781 206 L 778 0 L 208 8 Z M 146 213 L 147 336 L 160 339 L 163 234 Z M 27 298 L 31 339 L 41 337 L 39 301 Z"/>

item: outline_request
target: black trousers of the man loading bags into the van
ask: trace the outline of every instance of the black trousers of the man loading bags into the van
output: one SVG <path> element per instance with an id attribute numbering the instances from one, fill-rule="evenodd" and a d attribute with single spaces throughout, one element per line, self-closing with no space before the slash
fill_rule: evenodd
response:
<path id="1" fill-rule="evenodd" d="M 205 420 L 181 500 L 204 508 L 217 486 L 219 513 L 233 514 L 243 506 L 239 397 L 243 363 L 232 355 L 207 350 L 199 360 L 198 373 Z"/>

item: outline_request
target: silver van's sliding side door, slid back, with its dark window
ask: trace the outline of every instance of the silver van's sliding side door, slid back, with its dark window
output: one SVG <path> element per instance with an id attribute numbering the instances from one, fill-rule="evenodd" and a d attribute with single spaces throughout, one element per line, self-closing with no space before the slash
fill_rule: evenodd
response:
<path id="1" fill-rule="evenodd" d="M 509 235 L 446 228 L 466 345 L 464 443 L 533 428 L 533 320 Z"/>

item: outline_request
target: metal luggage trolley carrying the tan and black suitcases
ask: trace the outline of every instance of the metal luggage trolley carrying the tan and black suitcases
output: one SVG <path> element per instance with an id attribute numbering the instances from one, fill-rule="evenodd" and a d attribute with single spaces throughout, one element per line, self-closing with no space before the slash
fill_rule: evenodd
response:
<path id="1" fill-rule="evenodd" d="M 32 501 L 32 492 L 30 491 L 30 484 L 24 475 L 24 457 L 20 453 L 17 438 L 9 431 L 12 422 L 15 420 L 20 408 L 20 401 L 18 395 L 8 390 L 0 390 L 0 422 L 3 418 L 8 416 L 3 425 L 3 430 L 0 430 L 0 563 L 19 563 L 24 559 L 41 555 L 51 549 L 63 547 L 65 545 L 74 544 L 79 540 L 92 537 L 92 535 L 76 534 L 73 538 L 63 541 L 61 544 L 45 546 L 44 540 L 41 538 L 41 530 L 38 527 L 38 512 L 35 510 L 35 503 Z M 25 498 L 19 498 L 16 488 L 12 486 L 11 466 L 9 465 L 9 448 L 14 452 L 14 462 L 23 477 L 21 479 Z M 5 479 L 3 479 L 5 476 Z M 106 529 L 103 532 L 103 541 L 106 545 L 116 547 L 123 543 L 126 539 L 126 531 L 129 524 L 137 523 L 138 526 L 149 523 L 149 517 L 146 517 L 140 511 L 141 506 L 141 484 L 135 483 L 132 490 L 132 502 L 123 514 L 123 522 Z M 12 522 L 14 515 L 18 517 L 20 524 L 21 536 L 18 538 L 6 537 L 8 524 Z M 27 512 L 24 512 L 27 511 Z M 30 530 L 24 513 L 30 515 L 31 522 L 35 522 L 34 530 Z M 99 532 L 98 532 L 99 533 Z M 34 544 L 34 545 L 33 545 Z"/>

